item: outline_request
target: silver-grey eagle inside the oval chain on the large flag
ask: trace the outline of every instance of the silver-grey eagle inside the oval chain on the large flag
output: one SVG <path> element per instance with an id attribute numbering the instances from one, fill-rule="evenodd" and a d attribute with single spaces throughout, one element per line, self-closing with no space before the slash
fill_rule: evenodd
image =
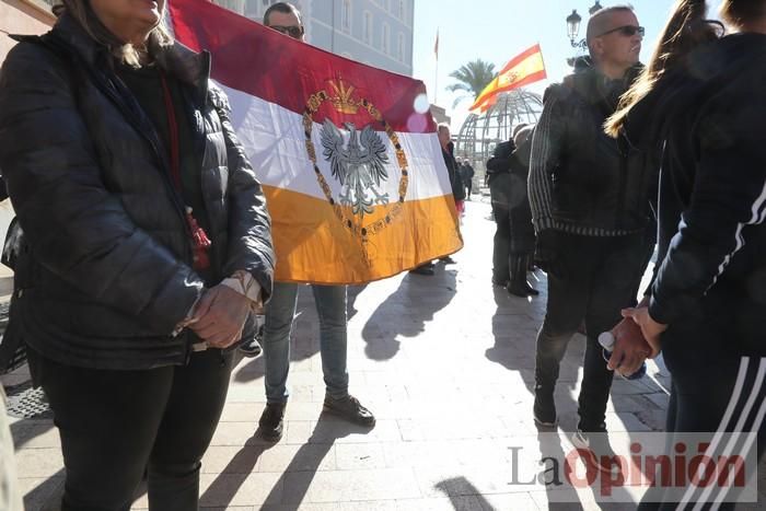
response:
<path id="1" fill-rule="evenodd" d="M 352 123 L 344 123 L 344 126 L 348 130 L 347 141 L 333 121 L 325 119 L 320 133 L 323 155 L 333 177 L 340 183 L 340 204 L 350 206 L 353 214 L 364 216 L 372 213 L 374 205 L 388 204 L 388 194 L 379 189 L 381 182 L 388 178 L 385 169 L 388 155 L 383 139 L 371 125 L 361 131 Z"/>

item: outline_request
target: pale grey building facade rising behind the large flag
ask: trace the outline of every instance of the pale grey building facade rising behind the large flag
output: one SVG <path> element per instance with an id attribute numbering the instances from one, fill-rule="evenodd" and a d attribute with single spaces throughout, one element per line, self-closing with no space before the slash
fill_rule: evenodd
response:
<path id="1" fill-rule="evenodd" d="M 260 22 L 274 0 L 214 0 Z M 386 71 L 413 76 L 415 0 L 295 0 L 306 42 Z"/>

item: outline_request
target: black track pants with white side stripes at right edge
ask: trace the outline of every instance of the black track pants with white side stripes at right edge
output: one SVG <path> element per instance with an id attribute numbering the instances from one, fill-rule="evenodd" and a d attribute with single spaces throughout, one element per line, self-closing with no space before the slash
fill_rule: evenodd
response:
<path id="1" fill-rule="evenodd" d="M 736 339 L 731 328 L 717 327 L 710 323 L 673 326 L 662 336 L 662 353 L 673 378 L 666 430 L 683 432 L 755 432 L 757 441 L 750 445 L 758 458 L 766 449 L 766 358 L 746 357 L 736 353 Z M 759 374 L 761 373 L 761 374 Z M 742 435 L 731 435 L 726 441 L 715 438 L 706 454 L 712 460 L 723 454 L 730 440 L 729 454 L 745 454 Z M 673 453 L 676 442 L 669 434 L 666 449 Z M 757 448 L 756 448 L 757 444 Z M 751 474 L 752 475 L 752 474 Z M 712 485 L 705 488 L 689 486 L 682 498 L 669 497 L 662 489 L 652 489 L 645 495 L 640 511 L 680 510 L 690 511 L 697 502 L 699 509 L 733 510 L 733 502 L 720 506 L 717 498 L 727 495 L 726 489 Z M 722 500 L 722 499 L 721 499 Z"/>

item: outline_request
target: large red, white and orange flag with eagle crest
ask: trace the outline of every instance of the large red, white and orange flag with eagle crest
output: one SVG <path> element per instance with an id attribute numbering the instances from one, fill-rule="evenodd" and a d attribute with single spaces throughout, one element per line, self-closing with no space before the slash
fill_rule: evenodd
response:
<path id="1" fill-rule="evenodd" d="M 169 7 L 177 42 L 212 54 L 264 186 L 277 280 L 368 282 L 463 246 L 422 82 L 206 0 Z"/>

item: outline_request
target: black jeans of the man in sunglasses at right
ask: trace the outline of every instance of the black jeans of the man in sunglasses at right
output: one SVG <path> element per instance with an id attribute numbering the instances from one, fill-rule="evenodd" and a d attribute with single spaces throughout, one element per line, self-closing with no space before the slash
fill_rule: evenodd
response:
<path id="1" fill-rule="evenodd" d="M 561 276 L 548 275 L 548 303 L 537 334 L 535 383 L 553 392 L 567 345 L 585 321 L 588 341 L 580 390 L 579 428 L 600 431 L 606 417 L 613 372 L 606 369 L 599 334 L 622 320 L 620 310 L 635 304 L 636 279 L 646 268 L 647 236 L 593 237 L 559 234 Z"/>

